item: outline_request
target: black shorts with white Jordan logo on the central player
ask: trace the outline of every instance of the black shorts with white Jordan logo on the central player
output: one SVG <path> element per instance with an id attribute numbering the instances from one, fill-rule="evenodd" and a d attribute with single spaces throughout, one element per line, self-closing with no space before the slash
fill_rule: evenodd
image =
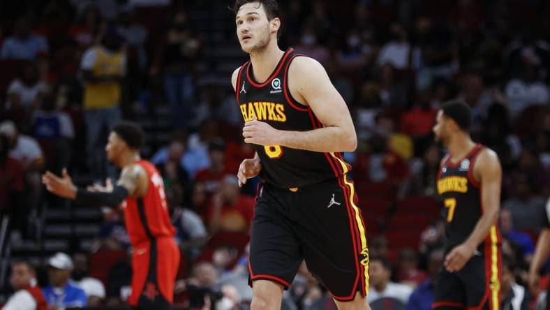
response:
<path id="1" fill-rule="evenodd" d="M 260 184 L 249 283 L 265 279 L 288 289 L 302 260 L 335 300 L 368 293 L 365 225 L 354 186 L 345 176 L 298 189 Z"/>

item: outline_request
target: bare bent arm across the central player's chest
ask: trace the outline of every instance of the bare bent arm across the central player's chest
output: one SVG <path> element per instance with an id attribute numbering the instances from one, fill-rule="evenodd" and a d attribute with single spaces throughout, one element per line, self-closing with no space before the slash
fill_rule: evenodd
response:
<path id="1" fill-rule="evenodd" d="M 280 131 L 269 124 L 252 120 L 244 124 L 244 142 L 281 145 L 313 152 L 352 152 L 357 135 L 350 111 L 318 61 L 296 57 L 288 69 L 290 94 L 309 105 L 323 128 L 312 131 Z"/>

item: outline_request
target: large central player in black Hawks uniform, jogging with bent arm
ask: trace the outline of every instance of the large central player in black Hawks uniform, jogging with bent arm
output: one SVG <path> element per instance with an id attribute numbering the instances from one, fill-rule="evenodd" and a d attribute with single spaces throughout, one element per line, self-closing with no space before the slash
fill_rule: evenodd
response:
<path id="1" fill-rule="evenodd" d="M 341 152 L 357 137 L 350 112 L 317 61 L 277 45 L 275 0 L 237 0 L 237 36 L 250 61 L 232 85 L 244 117 L 239 184 L 260 175 L 252 222 L 251 309 L 281 309 L 283 289 L 306 265 L 339 309 L 369 309 L 365 226 Z"/>

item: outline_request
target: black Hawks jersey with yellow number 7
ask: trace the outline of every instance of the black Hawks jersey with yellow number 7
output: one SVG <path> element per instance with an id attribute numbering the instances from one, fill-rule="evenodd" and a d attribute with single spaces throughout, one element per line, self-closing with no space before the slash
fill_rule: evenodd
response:
<path id="1" fill-rule="evenodd" d="M 440 197 L 443 198 L 443 214 L 447 220 L 447 250 L 466 241 L 482 216 L 481 184 L 474 179 L 473 168 L 477 156 L 483 149 L 482 145 L 476 145 L 459 163 L 452 163 L 450 155 L 443 159 L 437 187 Z M 486 242 L 497 243 L 498 240 L 500 235 L 495 225 L 491 228 Z"/>

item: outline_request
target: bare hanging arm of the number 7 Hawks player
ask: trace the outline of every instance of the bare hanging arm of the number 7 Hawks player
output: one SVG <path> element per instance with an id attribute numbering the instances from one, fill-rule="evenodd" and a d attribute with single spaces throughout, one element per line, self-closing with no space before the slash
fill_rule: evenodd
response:
<path id="1" fill-rule="evenodd" d="M 463 244 L 456 246 L 445 258 L 445 268 L 449 272 L 456 272 L 473 256 L 487 235 L 491 233 L 491 226 L 495 225 L 500 209 L 500 184 L 502 182 L 502 168 L 495 152 L 484 149 L 477 158 L 473 168 L 475 179 L 480 180 L 483 214 Z"/>

